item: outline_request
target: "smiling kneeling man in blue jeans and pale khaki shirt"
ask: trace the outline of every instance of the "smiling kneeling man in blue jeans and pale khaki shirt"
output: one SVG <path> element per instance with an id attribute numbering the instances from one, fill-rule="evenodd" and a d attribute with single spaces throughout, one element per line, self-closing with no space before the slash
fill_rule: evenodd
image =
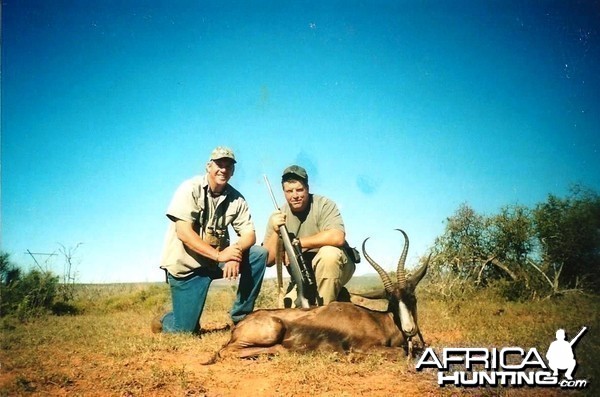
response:
<path id="1" fill-rule="evenodd" d="M 244 197 L 229 185 L 235 155 L 227 147 L 212 151 L 206 174 L 185 182 L 167 209 L 169 227 L 161 268 L 171 287 L 173 311 L 152 321 L 153 332 L 199 332 L 200 316 L 214 279 L 240 276 L 230 311 L 235 324 L 254 310 L 265 274 L 267 251 L 256 233 Z M 230 244 L 228 228 L 238 236 Z"/>

